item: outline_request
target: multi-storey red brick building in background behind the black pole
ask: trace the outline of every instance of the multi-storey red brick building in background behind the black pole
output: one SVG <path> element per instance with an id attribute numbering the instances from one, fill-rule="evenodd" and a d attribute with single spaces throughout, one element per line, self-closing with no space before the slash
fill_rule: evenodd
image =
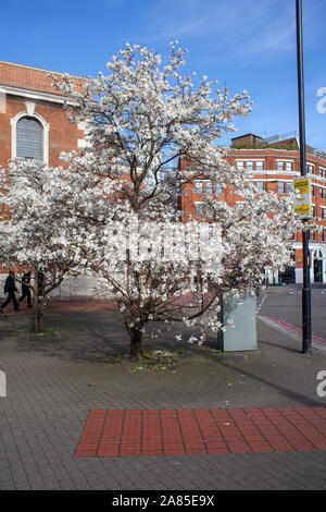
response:
<path id="1" fill-rule="evenodd" d="M 299 142 L 293 136 L 277 136 L 262 139 L 254 134 L 247 134 L 233 139 L 226 159 L 239 172 L 242 169 L 253 171 L 253 181 L 259 191 L 273 191 L 287 194 L 292 191 L 293 179 L 300 178 Z M 183 162 L 181 162 L 183 166 Z M 314 217 L 321 219 L 322 233 L 311 234 L 310 268 L 312 282 L 326 282 L 326 154 L 306 146 L 308 176 L 312 183 L 312 204 Z M 203 207 L 204 195 L 214 194 L 221 200 L 235 206 L 240 197 L 230 194 L 227 188 L 213 191 L 208 180 L 195 180 L 186 185 L 186 194 L 180 198 L 180 208 L 185 216 L 200 219 L 209 217 Z M 268 276 L 269 282 L 298 282 L 303 280 L 302 273 L 302 236 L 296 234 L 292 241 L 296 267 L 286 272 Z"/>

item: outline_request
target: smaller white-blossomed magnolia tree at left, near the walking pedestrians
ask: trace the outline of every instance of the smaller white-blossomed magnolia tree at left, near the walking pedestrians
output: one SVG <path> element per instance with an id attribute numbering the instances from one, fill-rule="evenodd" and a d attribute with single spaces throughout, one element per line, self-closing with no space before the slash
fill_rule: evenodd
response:
<path id="1" fill-rule="evenodd" d="M 37 160 L 13 160 L 0 173 L 0 203 L 5 211 L 0 222 L 2 264 L 15 269 L 22 283 L 24 270 L 34 272 L 35 332 L 40 330 L 49 293 L 64 276 L 76 269 L 77 225 L 60 209 L 58 193 L 62 169 L 47 169 Z"/>

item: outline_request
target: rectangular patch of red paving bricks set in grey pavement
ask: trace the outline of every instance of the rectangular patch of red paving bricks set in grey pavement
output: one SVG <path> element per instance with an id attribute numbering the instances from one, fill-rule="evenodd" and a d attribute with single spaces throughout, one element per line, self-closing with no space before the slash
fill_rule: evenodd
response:
<path id="1" fill-rule="evenodd" d="M 92 410 L 76 456 L 326 450 L 326 407 Z"/>

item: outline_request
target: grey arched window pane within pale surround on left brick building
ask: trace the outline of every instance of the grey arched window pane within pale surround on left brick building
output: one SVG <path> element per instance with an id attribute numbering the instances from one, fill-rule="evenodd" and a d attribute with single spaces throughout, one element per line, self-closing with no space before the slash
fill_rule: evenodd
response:
<path id="1" fill-rule="evenodd" d="M 16 157 L 43 160 L 43 127 L 28 115 L 16 124 Z"/>

